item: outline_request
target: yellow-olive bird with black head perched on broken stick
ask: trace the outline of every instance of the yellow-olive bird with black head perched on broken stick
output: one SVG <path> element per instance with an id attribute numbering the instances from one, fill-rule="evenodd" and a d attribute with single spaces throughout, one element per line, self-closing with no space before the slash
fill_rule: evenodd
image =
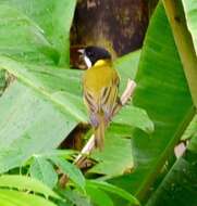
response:
<path id="1" fill-rule="evenodd" d="M 88 46 L 78 52 L 87 65 L 82 78 L 83 98 L 94 128 L 95 147 L 102 151 L 104 130 L 119 102 L 120 77 L 113 67 L 111 54 L 104 48 Z"/>

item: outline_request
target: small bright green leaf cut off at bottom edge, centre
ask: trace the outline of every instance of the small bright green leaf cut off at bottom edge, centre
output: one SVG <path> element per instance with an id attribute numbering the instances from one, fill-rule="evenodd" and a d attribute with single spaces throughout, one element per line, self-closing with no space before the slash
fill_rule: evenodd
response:
<path id="1" fill-rule="evenodd" d="M 94 204 L 98 206 L 113 206 L 113 202 L 109 195 L 100 189 L 93 185 L 87 185 L 86 192 L 90 196 Z"/>

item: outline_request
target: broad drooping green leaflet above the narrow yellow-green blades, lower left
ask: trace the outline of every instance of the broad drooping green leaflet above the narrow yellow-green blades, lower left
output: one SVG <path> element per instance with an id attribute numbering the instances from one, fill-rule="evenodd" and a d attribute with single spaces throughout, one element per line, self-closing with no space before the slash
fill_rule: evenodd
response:
<path id="1" fill-rule="evenodd" d="M 52 164 L 42 157 L 34 157 L 29 172 L 30 177 L 40 180 L 49 188 L 54 188 L 58 182 L 58 175 Z"/>

